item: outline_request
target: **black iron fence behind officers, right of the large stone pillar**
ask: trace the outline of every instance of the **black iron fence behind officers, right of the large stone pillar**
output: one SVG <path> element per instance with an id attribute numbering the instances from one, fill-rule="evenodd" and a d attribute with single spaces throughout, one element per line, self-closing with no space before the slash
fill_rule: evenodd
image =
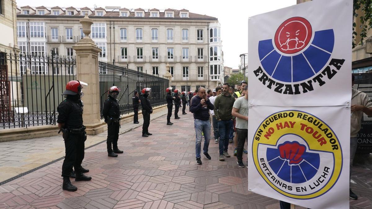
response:
<path id="1" fill-rule="evenodd" d="M 99 62 L 99 87 L 100 87 L 100 112 L 101 119 L 103 103 L 108 98 L 108 90 L 112 86 L 121 89 L 118 97 L 121 115 L 133 112 L 132 97 L 135 90 L 141 94 L 143 88 L 151 88 L 151 106 L 166 104 L 166 89 L 169 80 L 154 75 L 129 69 L 128 66 L 120 66 L 115 63 Z M 140 105 L 141 108 L 141 105 Z"/>

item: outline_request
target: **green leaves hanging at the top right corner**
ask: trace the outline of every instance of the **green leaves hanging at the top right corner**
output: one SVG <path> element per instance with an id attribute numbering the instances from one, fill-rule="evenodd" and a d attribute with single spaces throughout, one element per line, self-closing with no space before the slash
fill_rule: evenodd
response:
<path id="1" fill-rule="evenodd" d="M 357 10 L 360 9 L 360 13 L 363 15 L 358 15 Z M 359 18 L 360 20 L 360 34 L 355 31 L 356 22 L 355 19 Z M 364 38 L 367 38 L 367 32 L 372 28 L 372 0 L 354 0 L 353 2 L 353 48 L 361 44 L 363 45 Z M 355 38 L 357 35 L 360 35 L 360 42 L 355 43 Z"/>

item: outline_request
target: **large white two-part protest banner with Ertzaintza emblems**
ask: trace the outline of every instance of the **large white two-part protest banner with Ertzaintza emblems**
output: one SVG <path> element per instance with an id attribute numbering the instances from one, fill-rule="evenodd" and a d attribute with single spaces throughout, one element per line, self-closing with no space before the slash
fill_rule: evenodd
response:
<path id="1" fill-rule="evenodd" d="M 351 0 L 248 20 L 248 189 L 349 208 Z"/>

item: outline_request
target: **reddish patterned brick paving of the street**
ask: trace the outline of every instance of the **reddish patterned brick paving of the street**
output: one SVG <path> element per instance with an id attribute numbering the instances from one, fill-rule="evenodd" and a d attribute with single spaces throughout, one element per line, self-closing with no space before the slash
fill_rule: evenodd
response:
<path id="1" fill-rule="evenodd" d="M 0 186 L 0 208 L 279 208 L 248 191 L 247 168 L 234 157 L 217 160 L 218 144 L 209 146 L 212 160 L 196 165 L 192 114 L 180 116 L 173 126 L 166 116 L 152 121 L 147 138 L 141 128 L 120 135 L 118 158 L 107 157 L 104 143 L 87 149 L 83 166 L 93 179 L 72 181 L 76 192 L 62 190 L 58 161 Z M 353 179 L 360 199 L 351 208 L 371 208 L 371 171 L 356 168 Z"/>

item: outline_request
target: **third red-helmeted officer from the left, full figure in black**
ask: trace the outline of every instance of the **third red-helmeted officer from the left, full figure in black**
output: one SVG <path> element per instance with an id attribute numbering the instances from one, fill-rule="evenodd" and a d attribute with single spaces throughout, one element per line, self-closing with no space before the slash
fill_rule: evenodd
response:
<path id="1" fill-rule="evenodd" d="M 151 89 L 150 88 L 144 88 L 141 91 L 142 99 L 141 99 L 141 105 L 142 105 L 142 116 L 143 116 L 143 125 L 142 125 L 142 136 L 148 137 L 150 134 L 148 132 L 148 126 L 150 126 L 150 114 L 153 113 L 153 108 L 150 104 L 150 99 L 148 99 L 148 96 L 150 96 Z"/>

